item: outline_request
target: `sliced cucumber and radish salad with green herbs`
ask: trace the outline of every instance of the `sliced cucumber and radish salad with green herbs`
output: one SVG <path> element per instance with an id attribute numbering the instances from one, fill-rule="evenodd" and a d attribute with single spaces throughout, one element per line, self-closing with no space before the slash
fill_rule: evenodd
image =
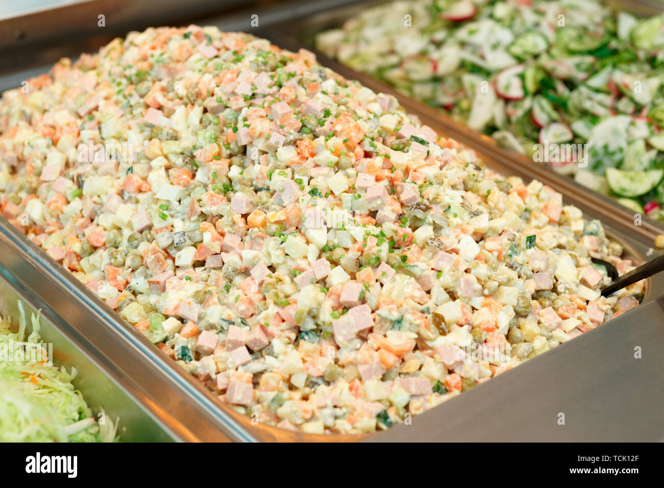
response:
<path id="1" fill-rule="evenodd" d="M 664 220 L 664 14 L 597 0 L 399 0 L 316 46 Z"/>

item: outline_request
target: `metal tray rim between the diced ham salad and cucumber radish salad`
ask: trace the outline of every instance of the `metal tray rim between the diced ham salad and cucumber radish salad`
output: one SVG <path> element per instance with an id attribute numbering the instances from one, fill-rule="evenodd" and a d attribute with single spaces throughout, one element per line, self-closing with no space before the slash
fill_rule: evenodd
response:
<path id="1" fill-rule="evenodd" d="M 452 137 L 460 143 L 472 147 L 487 163 L 495 161 L 505 167 L 505 175 L 518 175 L 528 179 L 539 179 L 550 187 L 560 191 L 567 203 L 574 204 L 584 210 L 584 213 L 593 218 L 600 218 L 603 222 L 611 220 L 614 226 L 621 228 L 625 234 L 637 236 L 642 242 L 653 245 L 655 236 L 664 234 L 664 222 L 655 221 L 645 216 L 641 218 L 641 225 L 635 225 L 635 215 L 632 210 L 618 204 L 615 200 L 600 195 L 590 189 L 578 185 L 568 177 L 558 175 L 554 171 L 533 162 L 531 159 L 517 153 L 506 151 L 498 147 L 497 143 L 488 135 L 469 129 L 463 123 L 453 120 L 442 110 L 438 110 L 418 102 L 398 92 L 394 87 L 353 70 L 344 64 L 325 56 L 315 48 L 314 38 L 317 33 L 339 27 L 343 21 L 352 18 L 359 11 L 385 3 L 389 0 L 365 1 L 343 5 L 345 2 L 327 1 L 325 9 L 313 15 L 305 15 L 296 19 L 274 23 L 261 34 L 275 44 L 289 50 L 305 48 L 311 50 L 318 61 L 332 68 L 350 80 L 358 80 L 374 92 L 383 92 L 396 96 L 408 112 L 417 114 L 422 122 L 430 125 L 438 133 Z M 629 11 L 635 15 L 655 15 L 664 12 L 664 4 L 651 1 L 625 1 L 606 0 L 605 3 L 618 9 Z"/>

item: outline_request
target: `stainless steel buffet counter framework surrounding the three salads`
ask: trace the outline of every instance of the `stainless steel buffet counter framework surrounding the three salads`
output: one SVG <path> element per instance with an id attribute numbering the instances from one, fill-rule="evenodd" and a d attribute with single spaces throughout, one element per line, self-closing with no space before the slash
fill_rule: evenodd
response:
<path id="1" fill-rule="evenodd" d="M 91 15 L 97 2 L 58 5 L 53 15 Z M 623 247 L 624 260 L 640 264 L 655 258 L 655 238 L 664 225 L 648 218 L 635 219 L 614 200 L 581 187 L 533 161 L 497 147 L 493 139 L 472 131 L 422 102 L 404 96 L 391 86 L 347 68 L 315 50 L 317 33 L 338 27 L 375 2 L 325 1 L 258 2 L 244 5 L 210 5 L 194 2 L 187 21 L 174 8 L 165 9 L 163 23 L 214 25 L 222 31 L 245 31 L 264 37 L 293 52 L 303 48 L 317 60 L 349 80 L 376 93 L 392 94 L 409 114 L 444 137 L 456 139 L 475 151 L 477 159 L 505 176 L 537 179 L 562 194 L 564 204 L 580 208 L 584 218 L 598 219 L 607 236 Z M 616 2 L 614 2 L 616 3 Z M 174 3 L 175 4 L 175 3 Z M 620 2 L 634 13 L 652 15 L 664 7 L 647 2 Z M 122 2 L 114 9 L 113 29 L 139 29 L 153 20 L 149 9 L 135 7 L 125 19 Z M 170 5 L 170 4 L 169 4 Z M 228 15 L 223 9 L 228 9 Z M 221 13 L 220 13 L 221 12 Z M 258 26 L 252 15 L 258 13 Z M 20 29 L 2 23 L 0 39 L 13 49 L 31 22 L 44 25 L 48 17 L 33 12 L 16 21 Z M 81 14 L 83 15 L 83 14 Z M 31 20 L 32 17 L 32 20 Z M 191 17 L 191 19 L 189 18 Z M 126 23 L 123 23 L 125 22 Z M 118 27 L 122 24 L 122 27 Z M 124 27 L 127 26 L 127 27 Z M 34 30 L 34 27 L 33 27 Z M 48 31 L 34 45 L 49 40 Z M 56 35 L 56 33 L 52 33 Z M 59 41 L 44 47 L 39 66 L 22 66 L 11 54 L 3 58 L 0 88 L 20 86 L 21 80 L 44 71 L 53 56 L 74 55 L 81 45 L 96 50 L 108 36 L 88 33 L 83 41 L 59 34 Z M 52 38 L 50 38 L 52 39 Z M 15 52 L 15 51 L 14 51 Z M 33 63 L 35 64 L 35 63 Z M 0 192 L 1 196 L 1 192 Z M 397 425 L 371 434 L 304 434 L 258 424 L 219 400 L 218 395 L 185 372 L 127 323 L 91 289 L 54 262 L 44 250 L 0 217 L 0 314 L 15 313 L 20 299 L 29 310 L 41 310 L 42 337 L 54 345 L 54 361 L 75 366 L 75 385 L 94 412 L 119 417 L 118 435 L 127 442 L 656 442 L 664 440 L 664 274 L 645 280 L 641 304 L 624 315 L 596 327 L 574 340 L 554 347 L 491 380 L 463 392 Z M 635 350 L 643 351 L 635 357 Z M 560 413 L 566 422 L 560 425 Z M 618 419 L 618 420 L 617 420 Z"/>

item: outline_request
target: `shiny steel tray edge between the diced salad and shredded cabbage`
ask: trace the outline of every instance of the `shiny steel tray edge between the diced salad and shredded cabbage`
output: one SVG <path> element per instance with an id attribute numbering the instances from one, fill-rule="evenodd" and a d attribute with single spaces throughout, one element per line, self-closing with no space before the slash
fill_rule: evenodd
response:
<path id="1" fill-rule="evenodd" d="M 185 373 L 173 361 L 167 361 L 161 351 L 125 325 L 108 305 L 97 297 L 91 300 L 92 293 L 64 268 L 54 266 L 44 252 L 6 221 L 0 222 L 0 249 L 3 280 L 31 307 L 41 308 L 44 319 L 52 325 L 44 340 L 58 339 L 57 334 L 66 339 L 52 341 L 62 343 L 59 353 L 62 364 L 70 366 L 74 364 L 72 361 L 83 359 L 89 362 L 81 364 L 80 381 L 90 390 L 91 405 L 101 404 L 112 412 L 113 405 L 124 405 L 122 395 L 118 394 L 121 392 L 141 408 L 141 415 L 137 410 L 127 411 L 126 417 L 122 415 L 127 434 L 133 432 L 129 425 L 135 427 L 136 422 L 146 422 L 149 426 L 150 421 L 179 441 L 252 440 L 233 422 L 227 421 L 223 412 L 216 408 L 217 400 L 197 391 L 197 387 L 203 390 L 203 386 L 189 377 L 187 380 L 191 381 L 183 380 Z M 103 380 L 94 368 L 101 370 L 108 380 Z M 112 384 L 115 389 L 111 388 Z M 103 395 L 100 398 L 96 397 L 97 388 Z M 138 434 L 143 431 L 135 432 L 133 440 L 143 440 Z M 147 428 L 146 432 L 157 430 Z M 153 438 L 155 434 L 147 440 Z M 162 440 L 166 438 L 161 436 Z"/>

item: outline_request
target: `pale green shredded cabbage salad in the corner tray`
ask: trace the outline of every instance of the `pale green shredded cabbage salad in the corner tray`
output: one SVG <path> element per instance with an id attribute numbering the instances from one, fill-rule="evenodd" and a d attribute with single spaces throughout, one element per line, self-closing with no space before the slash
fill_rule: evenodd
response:
<path id="1" fill-rule="evenodd" d="M 0 442 L 113 442 L 116 424 L 104 416 L 98 424 L 64 366 L 49 365 L 39 336 L 39 313 L 31 315 L 33 332 L 25 338 L 26 315 L 19 301 L 19 330 L 0 316 Z M 32 346 L 35 345 L 35 346 Z M 29 353 L 31 349 L 39 353 Z M 37 361 L 39 359 L 39 361 Z"/>

